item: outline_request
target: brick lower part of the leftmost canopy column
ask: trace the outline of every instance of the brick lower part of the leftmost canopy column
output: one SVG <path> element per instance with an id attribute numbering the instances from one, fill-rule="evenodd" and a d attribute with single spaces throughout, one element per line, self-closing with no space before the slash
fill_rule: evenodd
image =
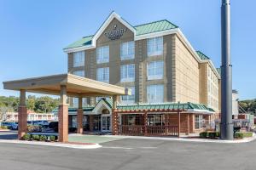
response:
<path id="1" fill-rule="evenodd" d="M 18 109 L 19 131 L 18 139 L 21 139 L 27 132 L 27 109 L 25 105 L 20 105 Z"/>

